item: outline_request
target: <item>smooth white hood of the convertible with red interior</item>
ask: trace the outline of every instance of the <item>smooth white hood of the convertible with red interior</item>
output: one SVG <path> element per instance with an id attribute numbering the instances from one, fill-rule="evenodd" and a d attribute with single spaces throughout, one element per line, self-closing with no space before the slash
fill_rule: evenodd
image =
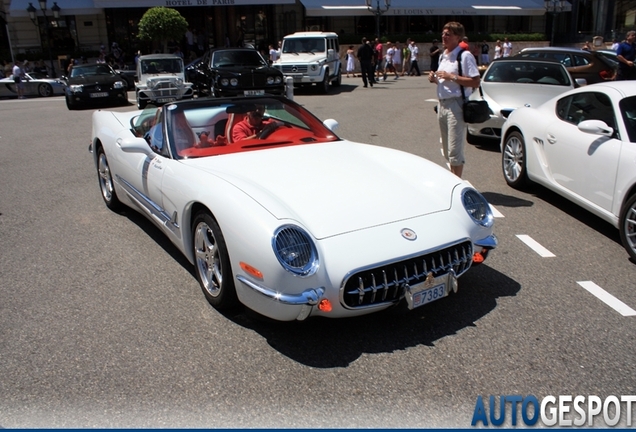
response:
<path id="1" fill-rule="evenodd" d="M 187 160 L 316 238 L 448 210 L 461 179 L 409 153 L 340 141 Z"/>

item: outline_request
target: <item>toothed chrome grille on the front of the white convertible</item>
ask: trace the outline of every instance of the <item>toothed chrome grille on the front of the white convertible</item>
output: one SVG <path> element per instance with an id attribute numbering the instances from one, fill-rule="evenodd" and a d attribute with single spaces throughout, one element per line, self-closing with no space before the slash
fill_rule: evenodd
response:
<path id="1" fill-rule="evenodd" d="M 472 258 L 472 244 L 465 241 L 426 255 L 354 273 L 344 283 L 342 302 L 349 308 L 397 302 L 404 296 L 406 284 L 424 282 L 431 272 L 438 277 L 452 270 L 459 277 L 470 268 Z"/>

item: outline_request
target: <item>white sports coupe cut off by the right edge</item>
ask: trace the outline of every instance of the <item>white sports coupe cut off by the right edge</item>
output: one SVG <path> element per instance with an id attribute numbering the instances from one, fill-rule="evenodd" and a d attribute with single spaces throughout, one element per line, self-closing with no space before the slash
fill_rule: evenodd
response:
<path id="1" fill-rule="evenodd" d="M 636 260 L 636 85 L 577 88 L 537 108 L 519 108 L 501 140 L 506 182 L 542 184 L 620 230 Z"/>

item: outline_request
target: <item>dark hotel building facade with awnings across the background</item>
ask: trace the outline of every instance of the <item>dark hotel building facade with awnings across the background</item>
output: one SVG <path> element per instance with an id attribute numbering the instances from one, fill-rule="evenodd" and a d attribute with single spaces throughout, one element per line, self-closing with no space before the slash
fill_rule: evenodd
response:
<path id="1" fill-rule="evenodd" d="M 335 31 L 341 35 L 437 34 L 450 20 L 470 33 L 543 33 L 554 27 L 557 44 L 579 43 L 600 35 L 622 37 L 636 28 L 636 0 L 571 0 L 559 13 L 546 13 L 542 0 L 57 0 L 46 10 L 34 0 L 0 0 L 0 60 L 29 55 L 88 56 L 113 42 L 132 61 L 134 53 L 156 49 L 137 39 L 137 24 L 153 6 L 178 10 L 188 21 L 195 49 L 249 43 L 259 49 L 300 30 Z M 35 22 L 29 4 L 37 9 Z M 46 15 L 46 16 L 45 16 Z M 173 41 L 187 50 L 185 38 Z M 186 51 L 187 52 L 187 51 Z M 83 54 L 82 54 L 83 55 Z"/>

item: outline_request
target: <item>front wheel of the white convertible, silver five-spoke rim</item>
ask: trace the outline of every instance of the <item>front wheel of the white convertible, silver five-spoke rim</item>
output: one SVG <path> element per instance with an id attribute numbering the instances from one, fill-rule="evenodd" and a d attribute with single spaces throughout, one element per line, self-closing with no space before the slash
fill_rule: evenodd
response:
<path id="1" fill-rule="evenodd" d="M 203 294 L 219 310 L 236 306 L 238 299 L 230 257 L 221 228 L 206 211 L 197 213 L 192 226 L 194 271 Z"/>

